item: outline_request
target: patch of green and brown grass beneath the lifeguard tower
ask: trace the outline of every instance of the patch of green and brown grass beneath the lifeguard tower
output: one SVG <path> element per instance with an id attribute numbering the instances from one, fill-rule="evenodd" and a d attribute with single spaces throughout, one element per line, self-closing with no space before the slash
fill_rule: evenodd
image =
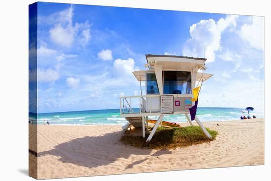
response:
<path id="1" fill-rule="evenodd" d="M 206 129 L 212 136 L 211 139 L 203 133 L 199 126 L 188 126 L 174 128 L 158 127 L 149 143 L 146 143 L 149 134 L 146 134 L 146 138 L 135 135 L 124 135 L 120 138 L 120 142 L 137 148 L 156 150 L 175 149 L 214 140 L 218 132 L 209 128 Z"/>

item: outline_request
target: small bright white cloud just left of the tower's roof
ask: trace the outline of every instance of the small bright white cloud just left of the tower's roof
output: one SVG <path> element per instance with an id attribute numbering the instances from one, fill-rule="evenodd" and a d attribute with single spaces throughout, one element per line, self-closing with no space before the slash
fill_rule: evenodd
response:
<path id="1" fill-rule="evenodd" d="M 135 61 L 132 58 L 128 60 L 116 59 L 113 64 L 114 73 L 118 76 L 132 76 L 135 67 Z"/>

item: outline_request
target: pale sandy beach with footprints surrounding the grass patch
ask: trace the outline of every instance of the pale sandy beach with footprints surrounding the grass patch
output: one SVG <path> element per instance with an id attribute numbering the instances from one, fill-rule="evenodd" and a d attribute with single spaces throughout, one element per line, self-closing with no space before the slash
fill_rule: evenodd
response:
<path id="1" fill-rule="evenodd" d="M 203 124 L 218 131 L 216 140 L 174 150 L 122 145 L 121 126 L 40 125 L 35 132 L 30 125 L 29 135 L 32 144 L 38 139 L 38 179 L 264 164 L 264 119 Z"/>

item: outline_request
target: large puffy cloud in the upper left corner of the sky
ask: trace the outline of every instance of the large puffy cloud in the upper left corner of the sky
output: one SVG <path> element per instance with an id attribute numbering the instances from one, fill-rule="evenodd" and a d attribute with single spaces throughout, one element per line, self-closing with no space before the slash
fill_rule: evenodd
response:
<path id="1" fill-rule="evenodd" d="M 52 18 L 54 17 L 54 19 Z M 51 19 L 54 24 L 49 30 L 50 38 L 53 42 L 63 47 L 71 47 L 74 42 L 79 42 L 82 46 L 90 40 L 90 24 L 72 22 L 73 6 L 59 13 L 53 14 Z"/>

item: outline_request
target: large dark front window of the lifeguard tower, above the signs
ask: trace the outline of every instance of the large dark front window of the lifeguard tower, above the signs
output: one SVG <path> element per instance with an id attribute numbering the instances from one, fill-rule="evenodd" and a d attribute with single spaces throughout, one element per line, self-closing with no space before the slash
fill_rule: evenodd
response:
<path id="1" fill-rule="evenodd" d="M 191 72 L 164 71 L 164 94 L 191 94 Z"/>

